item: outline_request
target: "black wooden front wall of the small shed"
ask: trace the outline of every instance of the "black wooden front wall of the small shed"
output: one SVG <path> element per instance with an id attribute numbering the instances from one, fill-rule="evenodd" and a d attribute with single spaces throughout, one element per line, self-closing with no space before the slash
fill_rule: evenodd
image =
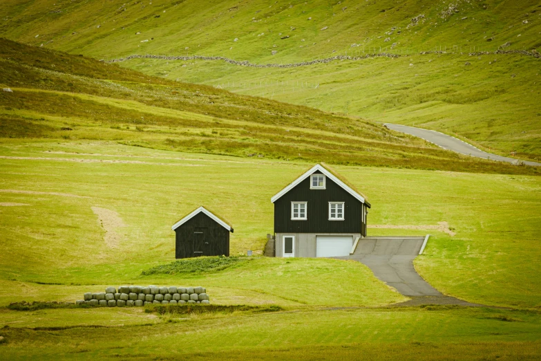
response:
<path id="1" fill-rule="evenodd" d="M 196 230 L 197 228 L 197 230 Z M 196 234 L 195 232 L 202 232 Z M 205 213 L 198 213 L 175 230 L 176 258 L 229 256 L 229 231 Z M 202 238 L 202 253 L 194 253 L 194 244 Z M 208 244 L 207 244 L 208 243 Z"/>

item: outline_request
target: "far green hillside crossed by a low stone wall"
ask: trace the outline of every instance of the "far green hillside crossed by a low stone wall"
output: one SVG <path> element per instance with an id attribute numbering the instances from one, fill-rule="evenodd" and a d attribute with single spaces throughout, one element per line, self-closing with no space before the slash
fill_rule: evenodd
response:
<path id="1" fill-rule="evenodd" d="M 401 55 L 287 69 L 149 59 L 122 65 L 437 129 L 503 156 L 541 159 L 540 60 L 466 55 L 504 44 L 506 50 L 537 49 L 538 1 L 207 1 L 200 6 L 199 1 L 8 0 L 0 15 L 3 36 L 98 59 L 197 54 L 283 64 L 337 54 Z M 419 55 L 427 50 L 446 54 Z"/>

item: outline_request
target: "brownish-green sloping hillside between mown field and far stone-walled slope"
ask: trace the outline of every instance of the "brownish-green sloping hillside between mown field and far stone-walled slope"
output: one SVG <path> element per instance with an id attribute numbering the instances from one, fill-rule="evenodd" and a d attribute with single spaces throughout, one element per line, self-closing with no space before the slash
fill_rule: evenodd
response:
<path id="1" fill-rule="evenodd" d="M 112 140 L 256 158 L 473 172 L 540 169 L 476 160 L 379 124 L 179 84 L 86 57 L 0 40 L 4 138 Z"/>

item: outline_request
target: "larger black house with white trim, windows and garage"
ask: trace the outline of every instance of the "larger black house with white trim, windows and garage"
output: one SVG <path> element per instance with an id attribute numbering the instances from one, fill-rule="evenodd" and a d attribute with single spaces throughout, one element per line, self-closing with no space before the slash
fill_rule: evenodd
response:
<path id="1" fill-rule="evenodd" d="M 276 257 L 339 257 L 366 237 L 370 203 L 322 165 L 271 198 Z"/>

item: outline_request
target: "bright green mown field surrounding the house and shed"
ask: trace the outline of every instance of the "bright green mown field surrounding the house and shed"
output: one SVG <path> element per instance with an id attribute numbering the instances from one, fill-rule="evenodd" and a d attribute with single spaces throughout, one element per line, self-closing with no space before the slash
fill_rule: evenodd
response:
<path id="1" fill-rule="evenodd" d="M 6 240 L 0 262 L 3 304 L 73 300 L 88 285 L 124 283 L 205 284 L 216 302 L 226 304 L 353 306 L 397 300 L 368 268 L 335 260 L 258 258 L 220 272 L 141 275 L 174 260 L 171 225 L 199 205 L 234 225 L 231 254 L 261 254 L 272 233 L 270 198 L 307 163 L 95 140 L 4 141 L 0 155 L 0 203 L 15 204 L 0 206 L 0 235 Z M 419 228 L 369 228 L 370 235 L 432 234 L 416 267 L 437 289 L 470 302 L 540 306 L 538 176 L 345 166 L 337 171 L 368 196 L 369 225 Z M 103 228 L 98 221 L 103 217 L 113 220 L 104 224 L 115 226 Z M 441 221 L 456 235 L 423 229 Z M 106 234 L 117 237 L 110 241 Z M 339 289 L 341 297 L 327 297 L 331 289 Z M 242 297 L 245 291 L 250 297 Z"/>

